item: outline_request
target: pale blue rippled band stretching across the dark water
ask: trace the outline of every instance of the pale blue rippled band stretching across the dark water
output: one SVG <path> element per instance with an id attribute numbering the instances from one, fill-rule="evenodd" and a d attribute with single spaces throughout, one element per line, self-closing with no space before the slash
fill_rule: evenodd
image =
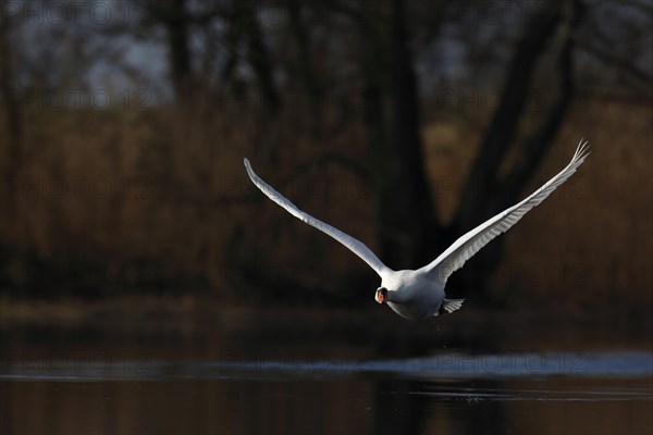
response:
<path id="1" fill-rule="evenodd" d="M 218 361 L 132 361 L 120 364 L 72 364 L 66 361 L 5 361 L 5 380 L 161 380 L 251 377 L 343 377 L 394 375 L 412 378 L 543 377 L 653 375 L 653 352 L 526 352 L 468 355 L 456 351 L 394 360 L 230 359 Z"/>

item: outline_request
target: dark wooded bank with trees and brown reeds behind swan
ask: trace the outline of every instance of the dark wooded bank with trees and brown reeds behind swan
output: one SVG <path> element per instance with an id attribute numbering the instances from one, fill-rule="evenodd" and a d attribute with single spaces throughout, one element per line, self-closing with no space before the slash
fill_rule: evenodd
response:
<path id="1" fill-rule="evenodd" d="M 264 199 L 243 157 L 414 269 L 584 137 L 581 170 L 452 291 L 653 303 L 650 2 L 0 4 L 5 295 L 369 303 L 373 272 Z"/>

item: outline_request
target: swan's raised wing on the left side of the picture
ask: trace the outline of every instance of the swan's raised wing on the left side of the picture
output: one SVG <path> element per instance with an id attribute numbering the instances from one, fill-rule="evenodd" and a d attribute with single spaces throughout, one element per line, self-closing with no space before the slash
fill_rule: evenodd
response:
<path id="1" fill-rule="evenodd" d="M 299 219 L 301 222 L 305 222 L 311 226 L 315 226 L 322 233 L 328 234 L 333 237 L 345 247 L 347 247 L 352 252 L 360 257 L 366 263 L 370 265 L 379 274 L 379 276 L 383 277 L 386 273 L 391 272 L 391 270 L 379 260 L 374 252 L 370 250 L 365 244 L 360 240 L 355 239 L 354 237 L 343 233 L 342 231 L 334 228 L 333 226 L 320 221 L 311 216 L 310 214 L 299 210 L 297 206 L 292 203 L 287 198 L 283 195 L 274 190 L 272 186 L 268 183 L 263 182 L 251 169 L 249 164 L 249 160 L 245 159 L 245 167 L 247 169 L 247 174 L 251 182 L 258 187 L 263 194 L 268 196 L 271 200 L 283 207 L 288 213 Z"/>

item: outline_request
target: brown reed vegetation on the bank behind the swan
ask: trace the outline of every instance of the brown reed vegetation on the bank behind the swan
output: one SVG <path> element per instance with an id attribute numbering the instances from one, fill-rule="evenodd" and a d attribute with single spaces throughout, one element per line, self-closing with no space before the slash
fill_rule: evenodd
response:
<path id="1" fill-rule="evenodd" d="M 366 265 L 266 201 L 242 163 L 249 157 L 301 208 L 373 249 L 373 198 L 360 174 L 330 158 L 364 159 L 354 146 L 365 140 L 361 128 L 353 123 L 316 138 L 296 111 L 272 123 L 250 108 L 212 104 L 201 101 L 193 113 L 32 113 L 24 164 L 2 177 L 2 201 L 14 204 L 1 216 L 4 250 L 20 253 L 4 264 L 3 289 L 209 288 L 231 298 L 289 283 L 345 298 L 365 294 L 356 290 L 375 284 Z M 651 107 L 599 99 L 578 107 L 523 195 L 567 162 L 580 136 L 592 154 L 504 236 L 505 258 L 489 285 L 500 299 L 651 307 Z M 422 129 L 445 219 L 480 134 L 459 120 Z"/>

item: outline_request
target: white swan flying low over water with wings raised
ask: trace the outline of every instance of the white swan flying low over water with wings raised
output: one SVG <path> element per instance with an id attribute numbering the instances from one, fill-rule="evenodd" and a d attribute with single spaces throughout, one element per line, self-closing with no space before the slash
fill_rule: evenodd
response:
<path id="1" fill-rule="evenodd" d="M 557 175 L 521 202 L 504 210 L 458 238 L 440 257 L 415 271 L 393 271 L 387 268 L 360 240 L 299 210 L 294 203 L 256 175 L 249 164 L 249 160 L 244 159 L 244 163 L 249 178 L 268 198 L 283 207 L 295 217 L 315 226 L 349 248 L 352 252 L 360 257 L 379 274 L 381 286 L 374 294 L 377 302 L 387 303 L 397 314 L 406 319 L 419 320 L 444 312 L 451 313 L 463 306 L 464 299 L 445 298 L 444 287 L 449 275 L 460 269 L 467 260 L 490 243 L 490 240 L 508 231 L 530 209 L 542 202 L 556 187 L 569 178 L 588 157 L 588 141 L 581 139 L 571 161 Z"/>

